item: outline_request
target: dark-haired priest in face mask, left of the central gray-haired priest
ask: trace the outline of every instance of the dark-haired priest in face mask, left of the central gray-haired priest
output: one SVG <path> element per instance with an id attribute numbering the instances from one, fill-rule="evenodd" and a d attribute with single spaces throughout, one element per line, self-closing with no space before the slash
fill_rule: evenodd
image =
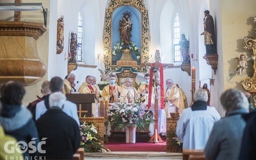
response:
<path id="1" fill-rule="evenodd" d="M 102 90 L 102 97 L 109 97 L 109 103 L 114 103 L 118 101 L 118 98 L 120 97 L 120 90 L 121 87 L 116 85 L 116 76 L 111 75 L 110 81 L 107 86 L 104 86 Z"/>

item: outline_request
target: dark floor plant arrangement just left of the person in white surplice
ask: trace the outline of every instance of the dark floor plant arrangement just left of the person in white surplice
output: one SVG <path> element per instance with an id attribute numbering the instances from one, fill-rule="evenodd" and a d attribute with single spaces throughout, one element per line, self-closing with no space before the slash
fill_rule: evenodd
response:
<path id="1" fill-rule="evenodd" d="M 173 152 L 181 152 L 182 150 L 182 142 L 177 137 L 174 127 L 170 127 L 166 132 L 166 147 L 172 148 Z"/>

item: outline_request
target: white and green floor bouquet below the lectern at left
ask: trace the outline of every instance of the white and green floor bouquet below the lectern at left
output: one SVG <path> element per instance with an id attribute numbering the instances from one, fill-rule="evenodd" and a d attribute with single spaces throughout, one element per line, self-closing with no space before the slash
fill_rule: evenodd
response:
<path id="1" fill-rule="evenodd" d="M 98 133 L 94 124 L 87 124 L 84 122 L 80 125 L 81 143 L 80 146 L 84 148 L 84 152 L 102 152 L 104 146 L 100 143 L 102 138 Z"/>

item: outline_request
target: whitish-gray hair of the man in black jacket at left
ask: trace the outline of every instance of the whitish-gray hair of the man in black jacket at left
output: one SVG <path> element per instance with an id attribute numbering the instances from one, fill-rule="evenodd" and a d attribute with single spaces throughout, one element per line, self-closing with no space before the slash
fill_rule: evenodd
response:
<path id="1" fill-rule="evenodd" d="M 49 97 L 50 107 L 62 108 L 66 99 L 67 98 L 65 97 L 65 95 L 63 95 L 63 93 L 61 93 L 61 92 L 51 93 L 51 95 Z"/>

